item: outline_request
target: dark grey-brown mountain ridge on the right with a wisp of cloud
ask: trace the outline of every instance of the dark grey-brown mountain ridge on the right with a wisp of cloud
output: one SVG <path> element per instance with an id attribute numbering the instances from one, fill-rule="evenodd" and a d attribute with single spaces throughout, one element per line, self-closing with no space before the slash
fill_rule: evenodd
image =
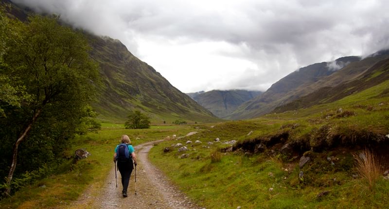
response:
<path id="1" fill-rule="evenodd" d="M 335 87 L 342 82 L 351 81 L 387 57 L 387 53 L 365 59 L 348 56 L 301 68 L 273 84 L 259 97 L 240 105 L 226 118 L 237 120 L 259 117 L 322 87 Z"/>

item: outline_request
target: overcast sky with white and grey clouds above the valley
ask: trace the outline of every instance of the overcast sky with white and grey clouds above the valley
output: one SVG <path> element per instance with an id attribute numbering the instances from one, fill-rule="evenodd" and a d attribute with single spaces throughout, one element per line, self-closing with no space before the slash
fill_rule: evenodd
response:
<path id="1" fill-rule="evenodd" d="M 389 48 L 388 0 L 13 0 L 119 39 L 182 92 L 266 90 Z"/>

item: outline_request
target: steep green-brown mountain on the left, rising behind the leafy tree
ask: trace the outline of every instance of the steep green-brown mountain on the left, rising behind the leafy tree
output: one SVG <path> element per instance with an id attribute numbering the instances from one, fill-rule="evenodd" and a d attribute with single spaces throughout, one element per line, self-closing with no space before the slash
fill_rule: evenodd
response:
<path id="1" fill-rule="evenodd" d="M 8 0 L 1 0 L 10 3 Z M 13 4 L 12 16 L 25 20 L 23 6 Z M 84 32 L 92 50 L 90 56 L 99 63 L 102 87 L 92 104 L 101 120 L 124 122 L 129 111 L 139 109 L 152 122 L 219 121 L 212 113 L 189 96 L 173 87 L 159 72 L 127 50 L 123 43 L 109 37 Z"/>

